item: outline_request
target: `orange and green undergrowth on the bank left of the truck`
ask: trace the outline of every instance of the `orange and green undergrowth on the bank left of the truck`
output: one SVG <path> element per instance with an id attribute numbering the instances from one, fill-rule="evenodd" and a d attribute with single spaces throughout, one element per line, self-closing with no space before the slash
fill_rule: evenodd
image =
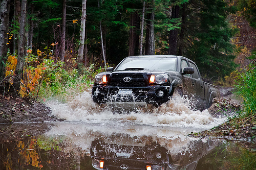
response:
<path id="1" fill-rule="evenodd" d="M 40 102 L 46 100 L 58 100 L 67 102 L 78 93 L 88 91 L 93 84 L 94 77 L 102 72 L 103 68 L 95 68 L 95 64 L 84 67 L 81 74 L 75 68 L 76 63 L 71 66 L 62 61 L 55 61 L 49 55 L 37 50 L 37 55 L 32 50 L 27 51 L 23 79 L 20 80 L 19 95 L 29 98 L 31 101 Z M 8 53 L 6 62 L 6 83 L 12 85 L 15 77 L 17 56 Z M 7 89 L 9 92 L 10 87 Z M 5 95 L 5 93 L 4 93 Z"/>

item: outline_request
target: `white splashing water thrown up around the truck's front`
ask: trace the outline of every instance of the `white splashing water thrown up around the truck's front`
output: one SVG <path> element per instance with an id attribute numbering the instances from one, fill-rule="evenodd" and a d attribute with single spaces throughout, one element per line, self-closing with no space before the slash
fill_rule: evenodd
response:
<path id="1" fill-rule="evenodd" d="M 111 109 L 98 106 L 92 100 L 91 94 L 84 91 L 75 96 L 74 100 L 60 104 L 47 103 L 53 115 L 67 121 L 85 121 L 101 124 L 133 124 L 149 126 L 194 127 L 209 129 L 223 123 L 226 118 L 212 117 L 207 110 L 193 111 L 191 101 L 184 98 L 175 98 L 158 108 L 137 110 L 129 114 L 113 113 Z M 125 113 L 125 110 L 124 110 Z"/>

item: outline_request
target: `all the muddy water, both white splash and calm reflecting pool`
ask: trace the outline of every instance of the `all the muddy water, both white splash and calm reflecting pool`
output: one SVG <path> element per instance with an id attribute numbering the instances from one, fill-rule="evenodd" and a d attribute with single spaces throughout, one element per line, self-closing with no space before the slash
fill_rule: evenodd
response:
<path id="1" fill-rule="evenodd" d="M 48 105 L 66 121 L 0 125 L 0 169 L 253 169 L 255 165 L 251 164 L 255 154 L 234 143 L 189 137 L 226 118 L 193 111 L 185 99 L 129 114 L 95 105 L 87 92 L 67 104 Z"/>

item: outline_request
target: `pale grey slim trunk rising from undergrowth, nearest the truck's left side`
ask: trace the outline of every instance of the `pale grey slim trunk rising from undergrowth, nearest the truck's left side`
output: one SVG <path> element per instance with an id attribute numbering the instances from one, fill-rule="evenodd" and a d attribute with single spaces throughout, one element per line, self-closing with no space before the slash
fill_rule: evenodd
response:
<path id="1" fill-rule="evenodd" d="M 81 17 L 81 29 L 80 29 L 80 45 L 78 49 L 77 62 L 78 72 L 81 74 L 82 71 L 82 58 L 83 58 L 83 47 L 84 47 L 84 36 L 86 34 L 86 1 L 82 1 L 82 17 Z"/>

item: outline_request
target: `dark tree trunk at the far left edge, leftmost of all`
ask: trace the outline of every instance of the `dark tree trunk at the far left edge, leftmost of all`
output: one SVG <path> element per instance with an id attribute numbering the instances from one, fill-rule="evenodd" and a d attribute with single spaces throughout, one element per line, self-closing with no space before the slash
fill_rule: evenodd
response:
<path id="1" fill-rule="evenodd" d="M 7 55 L 8 28 L 9 28 L 10 0 L 1 0 L 0 3 L 0 80 L 5 77 L 5 63 Z"/>

